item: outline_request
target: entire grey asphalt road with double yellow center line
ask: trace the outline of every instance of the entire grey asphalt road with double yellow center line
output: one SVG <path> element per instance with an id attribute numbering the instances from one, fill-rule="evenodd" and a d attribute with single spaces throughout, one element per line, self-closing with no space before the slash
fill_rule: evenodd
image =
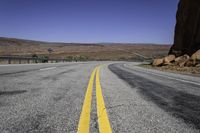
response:
<path id="1" fill-rule="evenodd" d="M 0 132 L 200 132 L 200 78 L 137 65 L 0 65 Z"/>

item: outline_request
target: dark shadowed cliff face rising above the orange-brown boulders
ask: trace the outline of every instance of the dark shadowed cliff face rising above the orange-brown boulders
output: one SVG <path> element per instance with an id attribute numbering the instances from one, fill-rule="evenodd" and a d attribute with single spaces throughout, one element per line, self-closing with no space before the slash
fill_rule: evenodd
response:
<path id="1" fill-rule="evenodd" d="M 191 56 L 200 49 L 200 0 L 180 0 L 174 45 L 169 54 Z"/>

